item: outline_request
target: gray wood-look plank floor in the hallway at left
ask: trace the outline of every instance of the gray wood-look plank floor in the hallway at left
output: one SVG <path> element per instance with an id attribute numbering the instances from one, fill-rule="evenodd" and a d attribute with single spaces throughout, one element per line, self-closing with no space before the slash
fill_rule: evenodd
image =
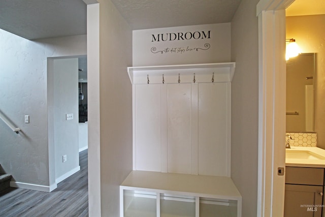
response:
<path id="1" fill-rule="evenodd" d="M 88 150 L 79 158 L 80 171 L 50 193 L 11 188 L 0 196 L 0 216 L 88 216 Z"/>

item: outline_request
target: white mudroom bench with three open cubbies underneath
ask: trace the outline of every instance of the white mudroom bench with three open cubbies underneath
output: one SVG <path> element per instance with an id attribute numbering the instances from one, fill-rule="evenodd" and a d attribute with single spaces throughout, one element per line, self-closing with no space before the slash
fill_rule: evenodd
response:
<path id="1" fill-rule="evenodd" d="M 125 203 L 134 204 L 123 199 L 127 191 L 141 191 L 143 197 L 155 195 L 156 216 L 205 217 L 212 212 L 213 216 L 241 216 L 242 197 L 229 177 L 132 171 L 120 186 L 120 210 L 121 216 L 138 216 L 123 215 Z M 138 205 L 137 213 L 144 211 L 141 207 Z"/>

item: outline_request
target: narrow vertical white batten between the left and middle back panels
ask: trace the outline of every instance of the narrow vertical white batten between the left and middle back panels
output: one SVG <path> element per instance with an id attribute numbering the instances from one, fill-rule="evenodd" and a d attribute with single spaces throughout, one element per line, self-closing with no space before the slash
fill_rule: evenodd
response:
<path id="1" fill-rule="evenodd" d="M 168 141 L 167 141 L 167 84 L 161 84 L 160 103 L 161 103 L 161 172 L 168 172 Z"/>

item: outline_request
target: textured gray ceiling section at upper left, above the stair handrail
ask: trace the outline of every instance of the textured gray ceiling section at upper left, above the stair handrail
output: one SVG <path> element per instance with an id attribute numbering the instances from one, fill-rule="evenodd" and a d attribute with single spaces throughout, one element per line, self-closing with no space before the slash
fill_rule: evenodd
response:
<path id="1" fill-rule="evenodd" d="M 0 0 L 0 28 L 26 39 L 83 35 L 82 0 Z"/>

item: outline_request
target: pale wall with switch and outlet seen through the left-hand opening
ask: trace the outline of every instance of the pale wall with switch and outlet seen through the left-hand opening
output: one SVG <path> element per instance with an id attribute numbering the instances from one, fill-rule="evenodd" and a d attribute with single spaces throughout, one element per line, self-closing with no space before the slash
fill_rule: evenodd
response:
<path id="1" fill-rule="evenodd" d="M 80 170 L 78 58 L 54 59 L 53 74 L 55 179 L 58 183 Z M 73 114 L 73 119 L 67 120 L 66 114 Z M 66 162 L 62 161 L 63 155 L 67 156 Z"/>

